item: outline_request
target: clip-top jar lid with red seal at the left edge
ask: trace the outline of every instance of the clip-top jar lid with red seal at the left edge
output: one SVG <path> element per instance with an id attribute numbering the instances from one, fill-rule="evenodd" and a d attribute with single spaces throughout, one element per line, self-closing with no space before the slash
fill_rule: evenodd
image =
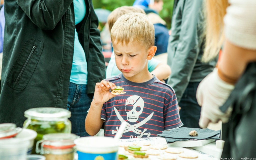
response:
<path id="1" fill-rule="evenodd" d="M 14 123 L 2 123 L 0 124 L 0 139 L 15 137 L 22 128 L 16 127 Z"/>

